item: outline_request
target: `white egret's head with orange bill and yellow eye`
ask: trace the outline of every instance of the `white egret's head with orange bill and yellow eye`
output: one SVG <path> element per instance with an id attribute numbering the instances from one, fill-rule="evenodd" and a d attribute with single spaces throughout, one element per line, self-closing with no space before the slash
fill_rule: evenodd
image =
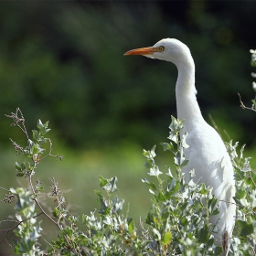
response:
<path id="1" fill-rule="evenodd" d="M 124 55 L 143 55 L 152 59 L 163 59 L 173 62 L 178 66 L 181 61 L 191 58 L 189 48 L 174 38 L 165 38 L 158 41 L 153 47 L 136 48 L 129 50 Z"/>

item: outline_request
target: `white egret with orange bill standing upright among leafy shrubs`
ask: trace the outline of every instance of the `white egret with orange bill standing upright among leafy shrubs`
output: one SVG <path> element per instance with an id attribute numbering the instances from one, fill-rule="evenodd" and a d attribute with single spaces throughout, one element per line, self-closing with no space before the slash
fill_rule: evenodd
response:
<path id="1" fill-rule="evenodd" d="M 179 120 L 185 119 L 184 133 L 188 133 L 185 156 L 189 160 L 183 168 L 186 174 L 195 169 L 195 182 L 213 187 L 213 194 L 219 199 L 219 214 L 211 219 L 217 223 L 219 233 L 215 240 L 223 248 L 222 255 L 228 255 L 229 243 L 235 223 L 236 206 L 233 167 L 227 149 L 217 133 L 204 120 L 198 103 L 195 87 L 195 64 L 189 48 L 179 40 L 165 38 L 153 47 L 137 48 L 124 55 L 143 55 L 152 59 L 163 59 L 176 65 L 176 110 Z M 187 175 L 186 175 L 187 176 Z"/>

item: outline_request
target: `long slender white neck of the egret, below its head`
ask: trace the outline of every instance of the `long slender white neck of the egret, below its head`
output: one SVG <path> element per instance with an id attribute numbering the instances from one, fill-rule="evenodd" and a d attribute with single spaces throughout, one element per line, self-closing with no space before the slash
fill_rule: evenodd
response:
<path id="1" fill-rule="evenodd" d="M 176 67 L 178 69 L 176 81 L 177 118 L 186 120 L 186 131 L 184 132 L 189 133 L 190 129 L 198 122 L 204 122 L 196 97 L 194 60 L 188 56 Z"/>

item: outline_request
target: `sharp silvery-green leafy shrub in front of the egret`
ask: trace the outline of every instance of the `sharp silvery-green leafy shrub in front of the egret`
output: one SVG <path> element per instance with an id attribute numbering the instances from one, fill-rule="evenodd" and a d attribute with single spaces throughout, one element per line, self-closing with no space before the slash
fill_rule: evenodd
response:
<path id="1" fill-rule="evenodd" d="M 91 210 L 90 215 L 69 215 L 65 197 L 58 183 L 51 178 L 51 195 L 56 206 L 48 212 L 41 197 L 46 197 L 45 188 L 36 177 L 40 162 L 53 156 L 52 143 L 46 134 L 48 122 L 37 122 L 37 130 L 32 131 L 30 139 L 25 119 L 19 109 L 8 117 L 12 118 L 27 136 L 24 148 L 12 141 L 17 155 L 27 156 L 27 161 L 16 162 L 16 176 L 25 177 L 28 187 L 6 189 L 2 203 L 16 200 L 16 216 L 5 219 L 11 228 L 1 229 L 8 241 L 8 233 L 14 231 L 16 241 L 14 251 L 23 255 L 218 255 L 221 248 L 214 244 L 212 226 L 209 218 L 218 213 L 218 200 L 212 196 L 210 187 L 193 182 L 194 172 L 190 172 L 190 182 L 184 181 L 181 168 L 187 165 L 183 154 L 187 134 L 180 139 L 179 132 L 183 123 L 172 117 L 169 142 L 162 144 L 165 151 L 174 157 L 174 163 L 167 166 L 165 174 L 155 163 L 155 147 L 144 151 L 148 177 L 143 183 L 149 188 L 152 197 L 145 223 L 142 219 L 135 225 L 134 219 L 123 214 L 124 199 L 114 196 L 117 191 L 117 177 L 100 176 L 101 191 L 95 190 L 100 209 Z M 48 150 L 47 153 L 47 144 Z M 255 172 L 251 170 L 250 159 L 243 157 L 243 148 L 237 155 L 238 144 L 227 144 L 235 168 L 237 185 L 236 203 L 237 221 L 234 237 L 231 240 L 232 255 L 255 254 L 255 208 L 256 188 L 253 180 Z M 207 202 L 207 203 L 204 203 Z M 58 238 L 48 242 L 48 249 L 41 248 L 39 240 L 43 238 L 40 215 L 45 215 L 59 229 Z M 80 223 L 83 224 L 80 228 Z"/>

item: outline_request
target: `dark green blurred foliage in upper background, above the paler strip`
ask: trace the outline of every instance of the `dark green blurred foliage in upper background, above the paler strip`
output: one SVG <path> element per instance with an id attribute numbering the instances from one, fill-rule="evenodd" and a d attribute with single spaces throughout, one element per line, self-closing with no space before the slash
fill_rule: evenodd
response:
<path id="1" fill-rule="evenodd" d="M 30 116 L 28 130 L 40 116 L 72 147 L 165 141 L 176 68 L 123 57 L 163 37 L 191 49 L 206 119 L 210 113 L 235 141 L 255 144 L 255 114 L 240 110 L 237 96 L 251 99 L 255 9 L 254 1 L 2 2 L 1 144 L 19 139 L 4 118 L 16 107 Z"/>

